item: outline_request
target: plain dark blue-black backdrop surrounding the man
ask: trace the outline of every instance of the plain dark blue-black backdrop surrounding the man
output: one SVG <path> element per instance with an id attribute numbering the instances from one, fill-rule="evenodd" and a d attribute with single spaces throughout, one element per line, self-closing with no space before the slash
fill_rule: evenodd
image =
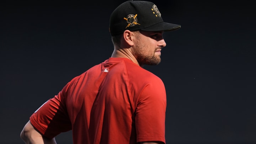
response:
<path id="1" fill-rule="evenodd" d="M 0 143 L 23 143 L 31 114 L 113 51 L 116 1 L 6 1 L 0 28 Z M 164 21 L 162 62 L 145 69 L 166 86 L 167 144 L 256 143 L 256 22 L 250 1 L 154 0 Z M 71 133 L 56 137 L 71 144 Z"/>

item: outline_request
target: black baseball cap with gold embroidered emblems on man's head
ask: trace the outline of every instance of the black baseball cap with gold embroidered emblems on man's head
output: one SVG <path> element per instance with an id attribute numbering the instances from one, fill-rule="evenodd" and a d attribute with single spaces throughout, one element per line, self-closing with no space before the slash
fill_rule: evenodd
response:
<path id="1" fill-rule="evenodd" d="M 130 31 L 175 31 L 180 25 L 162 20 L 158 7 L 149 1 L 126 1 L 110 15 L 110 33 L 116 35 Z"/>

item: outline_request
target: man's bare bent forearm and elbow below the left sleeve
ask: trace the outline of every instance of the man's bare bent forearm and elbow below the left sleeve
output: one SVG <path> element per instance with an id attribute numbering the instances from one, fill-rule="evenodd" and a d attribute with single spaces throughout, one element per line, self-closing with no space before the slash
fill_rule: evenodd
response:
<path id="1" fill-rule="evenodd" d="M 43 137 L 34 129 L 30 121 L 23 128 L 20 137 L 26 144 L 56 144 L 55 138 L 48 139 Z"/>

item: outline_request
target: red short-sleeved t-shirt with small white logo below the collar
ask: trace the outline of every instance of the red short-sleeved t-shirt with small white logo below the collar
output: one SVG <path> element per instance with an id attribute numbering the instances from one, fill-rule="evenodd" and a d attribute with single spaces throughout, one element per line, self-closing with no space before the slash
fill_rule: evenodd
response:
<path id="1" fill-rule="evenodd" d="M 127 58 L 109 58 L 72 79 L 30 117 L 48 138 L 73 131 L 74 144 L 165 143 L 160 78 Z"/>

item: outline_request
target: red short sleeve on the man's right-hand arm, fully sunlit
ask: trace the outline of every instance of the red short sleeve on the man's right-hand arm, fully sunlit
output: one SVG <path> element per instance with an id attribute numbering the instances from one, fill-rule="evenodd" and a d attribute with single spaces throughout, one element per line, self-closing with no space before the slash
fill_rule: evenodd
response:
<path id="1" fill-rule="evenodd" d="M 166 92 L 160 79 L 144 87 L 135 110 L 137 142 L 165 143 Z"/>

